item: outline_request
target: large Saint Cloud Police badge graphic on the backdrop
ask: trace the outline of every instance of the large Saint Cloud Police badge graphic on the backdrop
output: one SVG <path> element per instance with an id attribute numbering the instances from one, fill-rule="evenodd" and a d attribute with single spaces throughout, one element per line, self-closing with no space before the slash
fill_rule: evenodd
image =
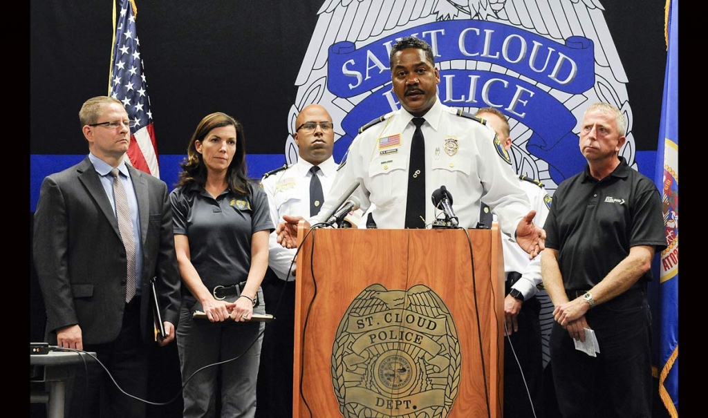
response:
<path id="1" fill-rule="evenodd" d="M 331 0 L 318 14 L 296 80 L 288 163 L 297 161 L 292 131 L 305 105 L 331 113 L 336 161 L 359 127 L 399 108 L 389 52 L 397 39 L 416 36 L 433 47 L 442 103 L 508 116 L 518 174 L 552 192 L 581 171 L 577 125 L 598 101 L 624 112 L 620 155 L 637 168 L 627 76 L 598 0 Z"/>

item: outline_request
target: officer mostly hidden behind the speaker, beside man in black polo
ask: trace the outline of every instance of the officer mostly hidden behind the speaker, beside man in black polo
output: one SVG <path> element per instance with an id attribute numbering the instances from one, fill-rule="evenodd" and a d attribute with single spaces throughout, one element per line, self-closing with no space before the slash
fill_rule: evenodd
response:
<path id="1" fill-rule="evenodd" d="M 496 132 L 506 151 L 512 140 L 509 123 L 502 112 L 482 108 L 475 115 Z M 519 177 L 519 185 L 536 211 L 534 222 L 543 225 L 551 207 L 551 197 L 538 180 Z M 491 216 L 480 221 L 491 226 Z M 491 215 L 491 213 L 487 213 Z M 502 236 L 506 298 L 504 317 L 504 417 L 544 417 L 543 408 L 543 354 L 537 286 L 542 284 L 541 257 L 529 261 L 528 256 L 506 234 Z"/>

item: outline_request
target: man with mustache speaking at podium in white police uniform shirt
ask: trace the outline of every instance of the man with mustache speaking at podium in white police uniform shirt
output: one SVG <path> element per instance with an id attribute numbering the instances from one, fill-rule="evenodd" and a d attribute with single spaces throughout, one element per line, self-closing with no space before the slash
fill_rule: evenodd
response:
<path id="1" fill-rule="evenodd" d="M 371 214 L 378 228 L 425 228 L 435 220 L 430 196 L 445 185 L 455 197 L 453 209 L 459 226 L 476 226 L 484 200 L 498 214 L 502 231 L 515 236 L 517 243 L 535 257 L 543 250 L 545 232 L 532 222 L 535 211 L 509 169 L 510 157 L 491 128 L 472 115 L 440 103 L 440 74 L 430 45 L 405 37 L 392 47 L 390 64 L 393 91 L 402 109 L 360 129 L 340 163 L 324 209 L 335 205 L 356 180 L 360 186 L 353 196 L 358 197 L 363 211 L 374 204 Z M 413 119 L 420 117 L 424 118 L 421 131 L 426 167 L 425 186 L 421 187 L 424 191 L 420 191 L 425 206 L 416 214 L 420 223 L 406 226 L 406 185 L 420 173 L 409 173 L 411 138 L 416 131 Z M 278 243 L 295 248 L 300 218 L 283 219 L 275 231 Z M 321 220 L 314 217 L 312 221 Z"/>

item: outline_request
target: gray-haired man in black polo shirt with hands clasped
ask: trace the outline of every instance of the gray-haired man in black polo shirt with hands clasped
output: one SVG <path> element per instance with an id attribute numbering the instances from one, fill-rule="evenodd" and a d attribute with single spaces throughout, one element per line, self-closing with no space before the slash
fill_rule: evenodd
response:
<path id="1" fill-rule="evenodd" d="M 626 129 L 620 110 L 590 105 L 580 131 L 588 166 L 556 189 L 544 226 L 542 276 L 556 321 L 551 362 L 565 417 L 651 417 L 645 288 L 666 234 L 656 186 L 619 157 Z M 576 349 L 588 330 L 595 356 Z"/>

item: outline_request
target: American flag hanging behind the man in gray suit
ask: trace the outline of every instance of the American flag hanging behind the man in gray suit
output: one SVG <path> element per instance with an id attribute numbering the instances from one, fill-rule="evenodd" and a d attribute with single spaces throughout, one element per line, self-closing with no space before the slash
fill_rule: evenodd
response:
<path id="1" fill-rule="evenodd" d="M 159 178 L 150 98 L 147 95 L 144 65 L 140 57 L 140 42 L 135 31 L 137 8 L 134 0 L 119 1 L 120 11 L 113 25 L 115 39 L 109 94 L 123 103 L 128 117 L 136 122 L 136 126 L 130 129 L 130 147 L 127 152 L 130 163 L 138 170 Z"/>

